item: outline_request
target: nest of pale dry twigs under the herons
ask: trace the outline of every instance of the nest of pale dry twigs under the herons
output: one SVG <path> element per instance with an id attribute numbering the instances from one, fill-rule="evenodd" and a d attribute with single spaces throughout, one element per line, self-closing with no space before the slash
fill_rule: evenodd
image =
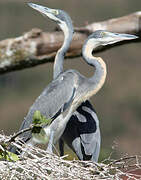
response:
<path id="1" fill-rule="evenodd" d="M 0 151 L 4 151 L 3 144 L 9 142 L 9 138 L 11 137 L 0 134 Z M 65 156 L 49 154 L 38 147 L 20 146 L 16 142 L 11 142 L 11 144 L 22 149 L 23 153 L 17 161 L 1 159 L 0 179 L 141 179 L 139 156 L 123 157 L 118 160 L 108 159 L 107 164 L 79 160 L 68 161 L 64 159 Z"/>

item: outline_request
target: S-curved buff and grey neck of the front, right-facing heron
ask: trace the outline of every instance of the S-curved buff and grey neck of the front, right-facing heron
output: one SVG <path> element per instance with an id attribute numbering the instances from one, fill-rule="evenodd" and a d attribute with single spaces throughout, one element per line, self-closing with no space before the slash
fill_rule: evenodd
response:
<path id="1" fill-rule="evenodd" d="M 106 64 L 103 59 L 100 57 L 94 57 L 92 55 L 92 51 L 98 46 L 99 44 L 89 40 L 84 44 L 82 49 L 84 60 L 87 62 L 87 64 L 95 67 L 93 76 L 89 78 L 90 82 L 93 84 L 93 86 L 91 86 L 93 94 L 96 94 L 101 89 L 107 75 Z"/>

